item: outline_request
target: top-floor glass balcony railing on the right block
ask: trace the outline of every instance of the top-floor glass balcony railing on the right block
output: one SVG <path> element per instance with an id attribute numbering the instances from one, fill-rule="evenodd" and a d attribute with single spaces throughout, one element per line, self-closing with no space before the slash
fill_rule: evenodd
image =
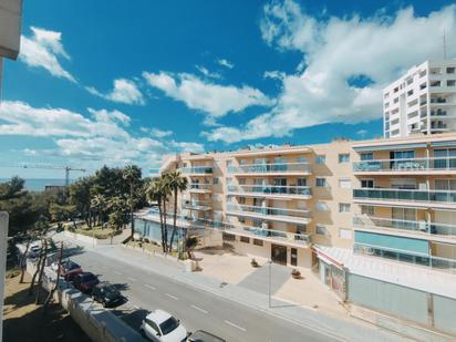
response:
<path id="1" fill-rule="evenodd" d="M 377 159 L 353 163 L 353 172 L 456 170 L 456 157 Z"/>

